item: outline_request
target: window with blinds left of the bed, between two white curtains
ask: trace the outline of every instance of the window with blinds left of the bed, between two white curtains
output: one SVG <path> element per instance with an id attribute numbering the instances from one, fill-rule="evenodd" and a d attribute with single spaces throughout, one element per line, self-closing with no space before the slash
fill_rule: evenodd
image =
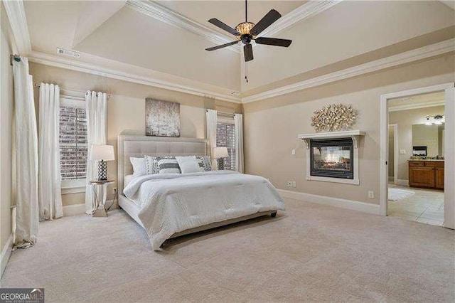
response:
<path id="1" fill-rule="evenodd" d="M 87 117 L 85 103 L 60 98 L 60 176 L 62 187 L 85 184 Z"/>

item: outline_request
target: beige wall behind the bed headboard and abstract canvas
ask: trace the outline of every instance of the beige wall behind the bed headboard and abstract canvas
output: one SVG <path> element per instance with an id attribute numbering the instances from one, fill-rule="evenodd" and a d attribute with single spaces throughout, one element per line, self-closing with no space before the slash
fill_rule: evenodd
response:
<path id="1" fill-rule="evenodd" d="M 114 145 L 117 152 L 117 136 L 127 130 L 129 133 L 145 134 L 145 98 L 179 102 L 181 104 L 181 137 L 205 138 L 205 109 L 223 112 L 242 112 L 242 105 L 213 100 L 208 97 L 188 95 L 161 88 L 128 83 L 87 73 L 53 68 L 36 63 L 30 64 L 34 83 L 55 83 L 68 90 L 96 90 L 107 92 L 107 144 Z M 35 89 L 38 103 L 38 89 Z M 38 104 L 37 107 L 38 108 Z M 107 162 L 109 179 L 117 180 L 117 161 Z M 113 186 L 112 186 L 113 187 Z M 112 198 L 112 187 L 108 199 Z M 63 195 L 63 205 L 84 202 L 84 193 Z"/>

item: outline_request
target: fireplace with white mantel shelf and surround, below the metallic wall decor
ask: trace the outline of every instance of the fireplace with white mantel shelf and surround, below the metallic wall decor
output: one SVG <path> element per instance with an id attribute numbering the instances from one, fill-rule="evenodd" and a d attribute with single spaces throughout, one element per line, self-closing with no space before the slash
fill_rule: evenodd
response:
<path id="1" fill-rule="evenodd" d="M 358 145 L 365 132 L 299 134 L 306 143 L 306 180 L 359 185 Z"/>

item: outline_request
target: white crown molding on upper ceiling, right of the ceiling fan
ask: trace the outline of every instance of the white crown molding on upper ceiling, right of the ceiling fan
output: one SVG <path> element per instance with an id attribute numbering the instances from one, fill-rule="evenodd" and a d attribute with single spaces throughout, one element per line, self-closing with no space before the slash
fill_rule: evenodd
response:
<path id="1" fill-rule="evenodd" d="M 332 6 L 339 4 L 342 0 L 321 0 L 321 1 L 308 1 L 302 6 L 294 9 L 279 18 L 269 28 L 266 28 L 260 36 L 274 36 L 277 33 L 284 31 L 285 29 L 294 26 L 295 23 L 304 21 L 305 19 L 321 14 L 323 11 L 330 9 Z"/>

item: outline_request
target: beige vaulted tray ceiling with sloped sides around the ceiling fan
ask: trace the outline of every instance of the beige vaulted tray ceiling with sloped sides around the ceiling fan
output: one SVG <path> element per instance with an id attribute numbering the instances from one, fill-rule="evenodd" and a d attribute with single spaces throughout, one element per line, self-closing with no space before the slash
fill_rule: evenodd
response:
<path id="1" fill-rule="evenodd" d="M 236 26 L 245 18 L 243 1 L 156 1 L 195 21 L 196 28 L 208 28 L 205 35 L 209 38 L 126 2 L 23 1 L 33 52 L 56 56 L 57 47 L 74 49 L 81 52 L 78 60 L 82 63 L 121 67 L 130 74 L 140 70 L 171 83 L 229 94 L 265 91 L 267 85 L 294 75 L 455 25 L 454 11 L 439 1 L 333 1 L 336 5 L 328 9 L 320 9 L 328 0 L 249 1 L 249 21 L 253 22 L 270 9 L 286 16 L 311 7 L 312 13 L 272 35 L 291 38 L 289 48 L 254 48 L 255 60 L 248 64 L 250 83 L 246 84 L 241 52 L 205 51 L 230 39 L 229 33 L 208 19 Z M 222 41 L 210 39 L 210 31 Z"/>

